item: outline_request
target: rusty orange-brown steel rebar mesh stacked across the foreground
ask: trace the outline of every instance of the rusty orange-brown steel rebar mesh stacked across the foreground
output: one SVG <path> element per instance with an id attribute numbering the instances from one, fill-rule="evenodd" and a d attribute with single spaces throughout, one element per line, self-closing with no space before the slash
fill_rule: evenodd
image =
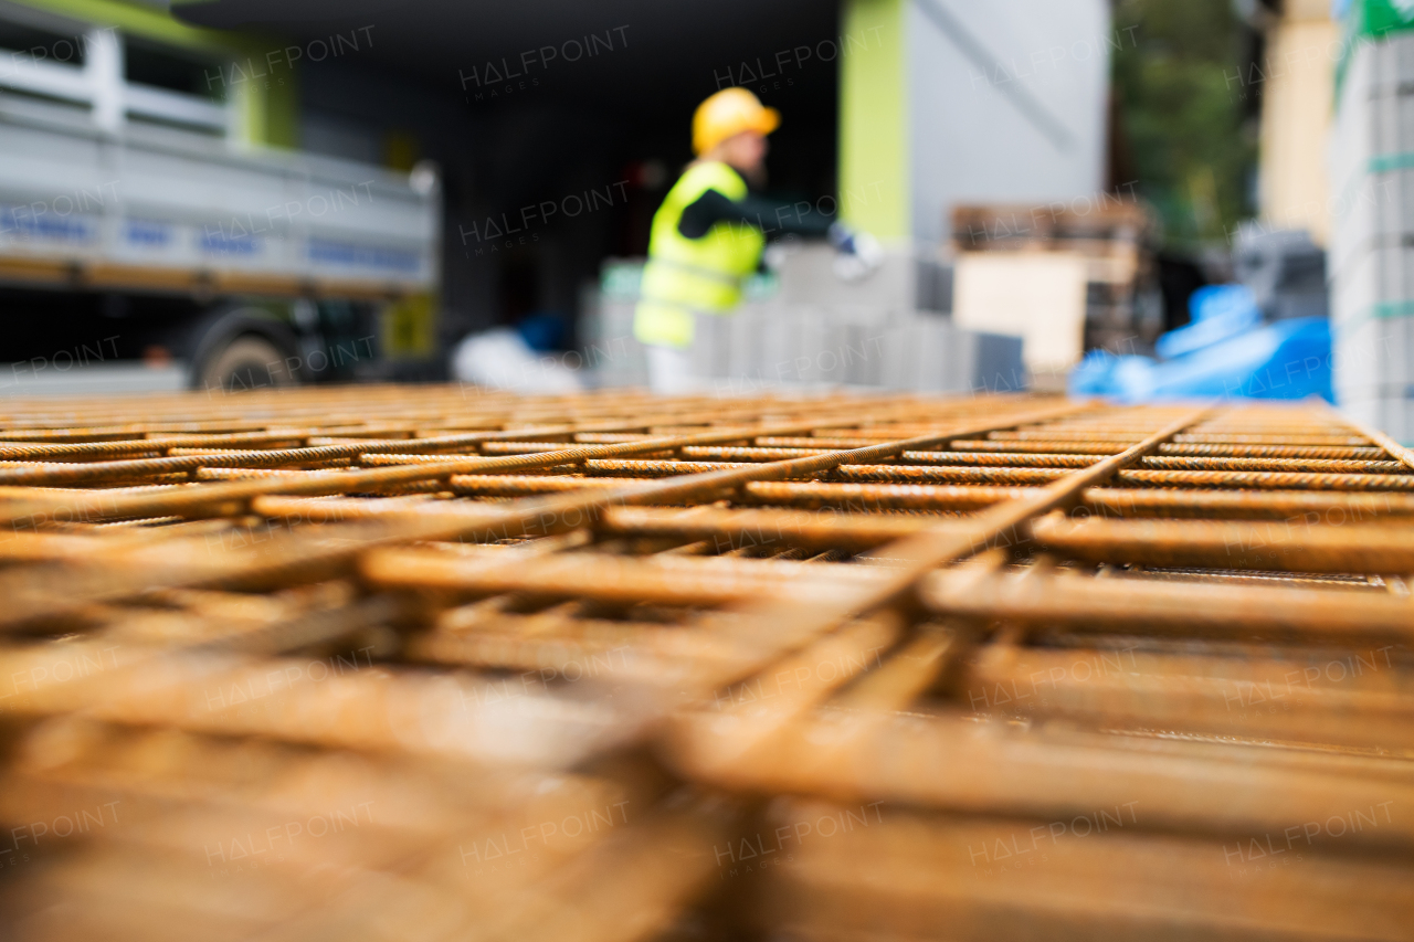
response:
<path id="1" fill-rule="evenodd" d="M 18 939 L 1414 936 L 1414 454 L 1315 405 L 0 412 Z"/>

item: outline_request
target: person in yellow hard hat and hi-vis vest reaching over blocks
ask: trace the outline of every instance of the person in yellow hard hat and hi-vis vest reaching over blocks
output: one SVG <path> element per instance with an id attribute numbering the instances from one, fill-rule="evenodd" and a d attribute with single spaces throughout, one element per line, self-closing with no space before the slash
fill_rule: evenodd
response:
<path id="1" fill-rule="evenodd" d="M 829 238 L 850 256 L 854 274 L 878 266 L 878 242 L 868 235 L 751 195 L 749 185 L 765 182 L 766 134 L 779 124 L 781 113 L 744 88 L 717 92 L 693 115 L 697 160 L 653 215 L 633 317 L 653 392 L 689 392 L 704 378 L 691 356 L 697 320 L 731 314 L 742 283 L 761 266 L 768 235 Z"/>

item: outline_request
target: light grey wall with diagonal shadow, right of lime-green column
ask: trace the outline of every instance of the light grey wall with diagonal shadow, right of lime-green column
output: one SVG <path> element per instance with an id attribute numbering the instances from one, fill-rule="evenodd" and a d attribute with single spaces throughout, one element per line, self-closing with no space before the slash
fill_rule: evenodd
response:
<path id="1" fill-rule="evenodd" d="M 913 238 L 957 202 L 1093 197 L 1104 185 L 1106 0 L 911 0 Z M 980 61 L 978 61 L 980 59 Z"/>

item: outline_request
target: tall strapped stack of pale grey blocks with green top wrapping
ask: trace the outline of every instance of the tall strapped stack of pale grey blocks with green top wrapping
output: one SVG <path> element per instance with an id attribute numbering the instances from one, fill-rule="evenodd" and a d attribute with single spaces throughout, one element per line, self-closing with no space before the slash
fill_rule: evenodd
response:
<path id="1" fill-rule="evenodd" d="M 1331 136 L 1336 402 L 1414 441 L 1414 10 L 1356 0 Z"/>

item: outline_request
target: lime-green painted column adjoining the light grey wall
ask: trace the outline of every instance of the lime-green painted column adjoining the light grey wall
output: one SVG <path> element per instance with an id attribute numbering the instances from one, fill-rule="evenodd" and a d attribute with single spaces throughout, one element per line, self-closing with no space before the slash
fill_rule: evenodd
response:
<path id="1" fill-rule="evenodd" d="M 908 0 L 846 0 L 840 37 L 840 212 L 885 242 L 909 218 Z"/>

